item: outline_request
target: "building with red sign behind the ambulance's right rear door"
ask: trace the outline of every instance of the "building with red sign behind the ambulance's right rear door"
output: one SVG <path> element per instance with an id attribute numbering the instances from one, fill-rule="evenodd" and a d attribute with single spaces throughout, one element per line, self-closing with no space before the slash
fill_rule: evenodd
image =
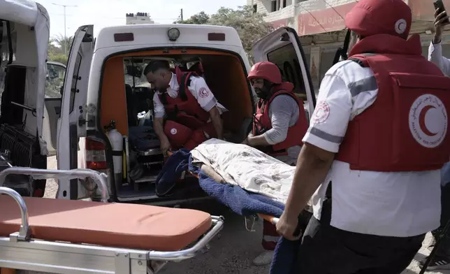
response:
<path id="1" fill-rule="evenodd" d="M 411 34 L 420 34 L 422 52 L 427 56 L 433 37 L 433 1 L 403 1 L 412 9 Z M 443 1 L 450 6 L 450 0 Z M 291 27 L 297 31 L 311 75 L 317 75 L 312 77 L 316 88 L 332 66 L 337 48 L 343 45 L 347 33 L 344 17 L 356 3 L 356 0 L 247 0 L 255 12 L 266 13 L 266 22 L 273 29 Z M 444 31 L 442 43 L 443 55 L 450 57 L 450 31 Z"/>

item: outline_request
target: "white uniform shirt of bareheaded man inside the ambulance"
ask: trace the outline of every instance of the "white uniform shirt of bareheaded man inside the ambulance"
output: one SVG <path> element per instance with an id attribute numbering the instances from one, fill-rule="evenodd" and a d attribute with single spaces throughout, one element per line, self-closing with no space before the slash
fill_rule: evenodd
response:
<path id="1" fill-rule="evenodd" d="M 224 106 L 217 102 L 214 94 L 212 94 L 210 88 L 206 85 L 205 79 L 191 76 L 191 85 L 187 88 L 205 111 L 209 112 L 215 106 L 219 108 L 220 114 L 227 111 Z M 176 98 L 178 96 L 178 89 L 180 89 L 180 85 L 177 82 L 177 76 L 172 73 L 172 79 L 170 79 L 169 87 L 167 89 L 168 96 Z M 164 105 L 159 100 L 159 94 L 161 94 L 161 92 L 155 92 L 153 96 L 154 117 L 157 118 L 164 117 L 166 114 Z"/>

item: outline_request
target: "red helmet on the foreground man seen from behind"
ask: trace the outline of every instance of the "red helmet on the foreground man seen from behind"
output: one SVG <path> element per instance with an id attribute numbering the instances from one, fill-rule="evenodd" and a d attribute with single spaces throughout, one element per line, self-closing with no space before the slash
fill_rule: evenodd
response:
<path id="1" fill-rule="evenodd" d="M 390 34 L 408 38 L 411 8 L 402 0 L 361 0 L 345 16 L 345 25 L 360 36 Z"/>

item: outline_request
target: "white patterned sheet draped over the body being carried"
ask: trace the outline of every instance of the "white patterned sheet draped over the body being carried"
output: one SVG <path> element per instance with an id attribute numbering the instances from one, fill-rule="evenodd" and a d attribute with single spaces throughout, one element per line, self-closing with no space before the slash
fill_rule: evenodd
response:
<path id="1" fill-rule="evenodd" d="M 191 150 L 193 164 L 213 168 L 231 185 L 286 203 L 295 166 L 248 145 L 210 139 Z"/>

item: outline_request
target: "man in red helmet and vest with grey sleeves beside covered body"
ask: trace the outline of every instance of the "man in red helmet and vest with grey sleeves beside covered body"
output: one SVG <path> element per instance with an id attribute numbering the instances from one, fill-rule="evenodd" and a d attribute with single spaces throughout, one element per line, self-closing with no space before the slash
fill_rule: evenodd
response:
<path id="1" fill-rule="evenodd" d="M 307 130 L 303 102 L 293 94 L 291 82 L 282 82 L 280 69 L 271 62 L 254 64 L 248 79 L 259 101 L 252 133 L 243 143 L 295 166 Z M 270 264 L 279 238 L 275 226 L 264 221 L 262 245 L 266 251 L 253 260 L 254 265 Z"/>

